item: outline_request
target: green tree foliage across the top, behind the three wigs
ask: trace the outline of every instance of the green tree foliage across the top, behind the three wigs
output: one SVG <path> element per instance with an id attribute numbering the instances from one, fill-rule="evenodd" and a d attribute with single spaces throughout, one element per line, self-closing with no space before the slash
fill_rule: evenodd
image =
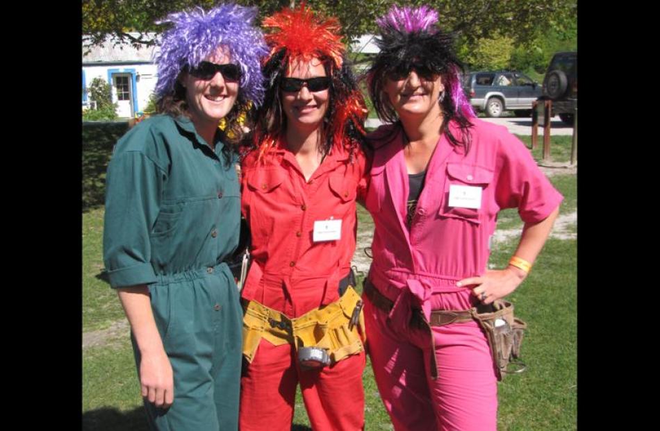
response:
<path id="1" fill-rule="evenodd" d="M 283 6 L 297 6 L 296 0 L 235 0 L 244 6 L 258 6 L 261 19 Z M 115 43 L 154 44 L 144 37 L 147 32 L 160 33 L 165 28 L 154 24 L 168 13 L 188 10 L 193 6 L 211 8 L 215 0 L 83 0 L 83 35 L 98 44 L 107 36 Z M 376 30 L 375 19 L 383 15 L 395 0 L 308 0 L 308 6 L 338 17 L 348 39 Z M 480 39 L 499 34 L 515 44 L 534 40 L 547 26 L 557 33 L 575 28 L 577 0 L 411 0 L 406 4 L 427 4 L 438 10 L 440 27 L 453 31 L 469 47 Z M 137 37 L 130 31 L 140 33 Z"/>

